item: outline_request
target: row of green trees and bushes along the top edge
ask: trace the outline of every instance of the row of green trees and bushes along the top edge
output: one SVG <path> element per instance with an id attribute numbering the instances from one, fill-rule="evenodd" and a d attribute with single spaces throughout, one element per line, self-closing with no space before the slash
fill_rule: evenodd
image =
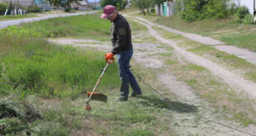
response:
<path id="1" fill-rule="evenodd" d="M 54 6 L 62 6 L 69 8 L 72 2 L 80 0 L 48 0 Z M 149 8 L 160 5 L 163 2 L 173 2 L 173 0 L 101 0 L 101 7 L 113 5 L 118 11 L 126 8 L 130 2 L 130 7 L 136 7 L 141 13 L 146 15 Z M 209 18 L 225 18 L 239 11 L 239 7 L 235 6 L 234 0 L 176 0 L 174 13 L 182 16 L 186 21 L 197 21 Z M 248 9 L 242 9 L 247 12 Z M 243 15 L 242 15 L 243 16 Z"/>

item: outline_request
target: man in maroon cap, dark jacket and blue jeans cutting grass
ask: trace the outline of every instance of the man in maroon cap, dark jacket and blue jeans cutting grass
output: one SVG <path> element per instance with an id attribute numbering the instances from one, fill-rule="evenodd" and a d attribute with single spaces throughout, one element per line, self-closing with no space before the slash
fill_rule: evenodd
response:
<path id="1" fill-rule="evenodd" d="M 117 54 L 117 62 L 119 66 L 119 77 L 121 78 L 121 96 L 119 101 L 127 101 L 129 94 L 129 83 L 133 90 L 131 96 L 141 96 L 141 90 L 135 77 L 130 72 L 129 64 L 133 54 L 130 26 L 124 16 L 121 16 L 116 12 L 116 7 L 107 5 L 104 7 L 102 18 L 112 22 L 111 25 L 111 42 L 113 48 L 111 53 L 105 54 L 107 62 L 113 59 Z"/>

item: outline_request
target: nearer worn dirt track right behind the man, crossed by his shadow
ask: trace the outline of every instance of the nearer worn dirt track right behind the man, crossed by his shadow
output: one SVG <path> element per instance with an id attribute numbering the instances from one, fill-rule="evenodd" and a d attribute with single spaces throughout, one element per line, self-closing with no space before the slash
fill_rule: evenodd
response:
<path id="1" fill-rule="evenodd" d="M 157 45 L 151 44 L 134 44 L 135 54 L 133 59 L 137 63 L 142 64 L 146 68 L 163 68 L 164 62 L 159 60 L 154 54 L 168 53 L 167 50 L 158 48 Z M 140 51 L 143 50 L 143 51 Z M 174 50 L 175 51 L 175 50 Z M 178 54 L 175 53 L 175 54 Z M 206 101 L 202 101 L 194 94 L 195 91 L 187 86 L 185 82 L 178 81 L 177 77 L 170 73 L 158 73 L 159 82 L 164 83 L 164 87 L 168 88 L 178 96 L 178 101 L 191 106 L 197 106 L 197 112 L 172 112 L 172 121 L 170 124 L 178 135 L 249 135 L 244 132 L 250 132 L 252 128 L 240 128 L 244 132 L 235 129 L 238 128 L 232 121 L 225 120 L 221 115 L 216 114 L 213 107 L 209 106 Z M 224 126 L 230 126 L 224 127 Z M 233 127 L 231 127 L 233 126 Z M 235 127 L 234 127 L 235 126 Z M 256 132 L 254 132 L 256 133 Z M 253 133 L 252 133 L 253 134 Z"/>

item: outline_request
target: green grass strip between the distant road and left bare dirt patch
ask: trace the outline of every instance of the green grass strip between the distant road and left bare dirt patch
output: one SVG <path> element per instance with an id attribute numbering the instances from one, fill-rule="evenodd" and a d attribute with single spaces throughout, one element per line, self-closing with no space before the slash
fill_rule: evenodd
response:
<path id="1" fill-rule="evenodd" d="M 1 30 L 1 34 L 58 38 L 83 37 L 88 39 L 109 40 L 111 23 L 100 18 L 100 14 L 58 17 L 10 26 Z"/>

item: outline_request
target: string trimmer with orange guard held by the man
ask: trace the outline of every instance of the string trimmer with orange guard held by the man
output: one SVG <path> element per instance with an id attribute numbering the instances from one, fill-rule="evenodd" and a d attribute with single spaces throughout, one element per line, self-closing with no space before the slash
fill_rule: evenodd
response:
<path id="1" fill-rule="evenodd" d="M 107 102 L 107 96 L 106 95 L 104 95 L 103 93 L 94 92 L 94 91 L 95 91 L 98 83 L 101 81 L 104 73 L 106 72 L 108 65 L 113 63 L 114 60 L 115 59 L 113 58 L 113 59 L 107 61 L 107 65 L 103 69 L 102 75 L 97 79 L 97 83 L 96 83 L 95 87 L 92 89 L 92 92 L 88 92 L 88 100 L 85 102 L 85 106 L 83 107 L 84 109 L 86 109 L 86 110 L 91 110 L 92 109 L 92 107 L 90 106 L 90 103 L 89 103 L 91 100 Z"/>

